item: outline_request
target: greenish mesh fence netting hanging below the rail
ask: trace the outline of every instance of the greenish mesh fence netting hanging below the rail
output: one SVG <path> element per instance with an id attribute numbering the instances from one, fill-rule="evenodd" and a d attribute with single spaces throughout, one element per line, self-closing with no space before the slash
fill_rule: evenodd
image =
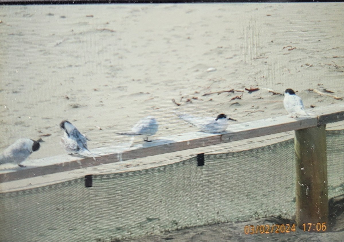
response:
<path id="1" fill-rule="evenodd" d="M 344 131 L 327 131 L 329 197 L 344 194 Z M 116 239 L 295 210 L 293 140 L 0 194 L 1 241 Z"/>

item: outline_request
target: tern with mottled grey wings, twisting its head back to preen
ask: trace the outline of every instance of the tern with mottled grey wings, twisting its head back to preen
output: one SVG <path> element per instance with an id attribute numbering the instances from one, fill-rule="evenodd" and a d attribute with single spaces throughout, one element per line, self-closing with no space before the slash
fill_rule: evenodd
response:
<path id="1" fill-rule="evenodd" d="M 60 123 L 60 127 L 64 130 L 64 135 L 62 136 L 60 143 L 68 153 L 76 153 L 86 157 L 93 157 L 94 160 L 96 160 L 95 157 L 99 157 L 88 150 L 88 139 L 85 135 L 80 133 L 71 122 L 64 120 Z"/>

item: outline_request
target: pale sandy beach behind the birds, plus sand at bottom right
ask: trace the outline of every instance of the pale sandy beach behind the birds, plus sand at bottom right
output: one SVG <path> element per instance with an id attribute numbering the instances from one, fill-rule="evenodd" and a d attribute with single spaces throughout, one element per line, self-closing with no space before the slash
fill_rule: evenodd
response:
<path id="1" fill-rule="evenodd" d="M 0 151 L 28 137 L 43 140 L 29 159 L 64 154 L 62 120 L 84 133 L 93 149 L 129 142 L 115 132 L 129 131 L 148 115 L 160 124 L 153 139 L 197 130 L 174 111 L 198 117 L 225 113 L 237 122 L 286 115 L 283 96 L 269 90 L 282 94 L 292 88 L 306 109 L 343 103 L 314 92 L 344 97 L 343 8 L 343 3 L 0 6 Z M 342 232 L 271 238 L 243 232 L 243 224 L 226 223 L 147 241 L 343 241 Z"/>

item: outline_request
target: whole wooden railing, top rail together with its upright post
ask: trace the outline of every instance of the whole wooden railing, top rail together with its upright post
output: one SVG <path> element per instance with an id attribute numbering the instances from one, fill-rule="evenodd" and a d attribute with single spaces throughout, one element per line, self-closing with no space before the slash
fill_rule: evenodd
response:
<path id="1" fill-rule="evenodd" d="M 0 183 L 294 130 L 297 225 L 301 228 L 304 223 L 326 224 L 328 195 L 325 125 L 344 120 L 344 104 L 314 108 L 312 113 L 315 115 L 299 118 L 285 115 L 232 124 L 226 132 L 220 134 L 190 132 L 158 137 L 153 142 L 145 142 L 131 148 L 128 148 L 127 144 L 97 148 L 91 151 L 100 155 L 96 161 L 93 158 L 69 155 L 36 159 L 32 162 L 33 165 L 24 168 L 1 170 Z M 290 161 L 279 158 L 279 162 Z"/>

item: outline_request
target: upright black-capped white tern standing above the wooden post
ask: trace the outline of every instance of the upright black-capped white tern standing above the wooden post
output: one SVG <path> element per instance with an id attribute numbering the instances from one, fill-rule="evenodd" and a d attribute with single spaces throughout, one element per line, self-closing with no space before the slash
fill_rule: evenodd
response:
<path id="1" fill-rule="evenodd" d="M 309 116 L 309 113 L 304 110 L 302 99 L 299 96 L 296 96 L 295 92 L 288 88 L 284 91 L 283 106 L 291 114 L 297 118 L 299 115 Z"/>

